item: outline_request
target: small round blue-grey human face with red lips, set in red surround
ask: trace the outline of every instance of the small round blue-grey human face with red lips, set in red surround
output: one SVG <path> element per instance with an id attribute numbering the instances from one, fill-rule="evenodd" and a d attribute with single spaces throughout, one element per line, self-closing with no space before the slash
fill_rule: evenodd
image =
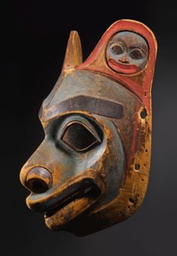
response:
<path id="1" fill-rule="evenodd" d="M 148 61 L 148 44 L 134 32 L 118 32 L 107 45 L 107 64 L 121 74 L 142 71 Z"/>

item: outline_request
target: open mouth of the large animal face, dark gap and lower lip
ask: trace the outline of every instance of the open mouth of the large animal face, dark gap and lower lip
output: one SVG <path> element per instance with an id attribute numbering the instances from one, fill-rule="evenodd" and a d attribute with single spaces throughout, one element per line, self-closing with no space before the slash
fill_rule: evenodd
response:
<path id="1" fill-rule="evenodd" d="M 44 214 L 47 227 L 58 230 L 86 209 L 89 209 L 103 194 L 94 179 L 86 178 L 65 188 Z M 56 199 L 56 198 L 55 198 Z"/>

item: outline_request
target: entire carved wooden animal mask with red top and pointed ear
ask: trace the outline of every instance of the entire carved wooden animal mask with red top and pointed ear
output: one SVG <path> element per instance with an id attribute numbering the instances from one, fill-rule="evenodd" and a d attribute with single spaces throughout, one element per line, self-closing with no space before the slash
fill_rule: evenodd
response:
<path id="1" fill-rule="evenodd" d="M 150 29 L 119 20 L 82 62 L 71 32 L 62 74 L 40 108 L 45 139 L 20 173 L 28 207 L 43 212 L 50 229 L 84 236 L 142 203 L 156 51 Z"/>

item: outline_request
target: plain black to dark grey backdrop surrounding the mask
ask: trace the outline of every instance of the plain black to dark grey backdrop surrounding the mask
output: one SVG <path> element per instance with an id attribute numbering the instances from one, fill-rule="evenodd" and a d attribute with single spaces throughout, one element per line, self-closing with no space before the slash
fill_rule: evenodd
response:
<path id="1" fill-rule="evenodd" d="M 6 2 L 1 8 L 1 254 L 176 255 L 176 20 L 172 2 Z M 47 229 L 25 203 L 20 168 L 43 139 L 41 102 L 60 74 L 72 29 L 86 59 L 116 20 L 139 20 L 157 37 L 151 175 L 127 221 L 78 238 Z M 2 253 L 2 250 L 5 251 Z"/>

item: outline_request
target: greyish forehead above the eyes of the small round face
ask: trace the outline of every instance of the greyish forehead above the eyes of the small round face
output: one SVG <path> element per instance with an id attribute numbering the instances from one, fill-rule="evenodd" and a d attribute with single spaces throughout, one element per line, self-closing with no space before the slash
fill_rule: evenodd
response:
<path id="1" fill-rule="evenodd" d="M 118 32 L 110 38 L 111 41 L 121 41 L 122 43 L 126 44 L 127 47 L 130 46 L 137 46 L 137 47 L 145 47 L 148 50 L 148 44 L 145 41 L 145 38 L 142 38 L 141 35 L 138 35 L 134 32 Z"/>

